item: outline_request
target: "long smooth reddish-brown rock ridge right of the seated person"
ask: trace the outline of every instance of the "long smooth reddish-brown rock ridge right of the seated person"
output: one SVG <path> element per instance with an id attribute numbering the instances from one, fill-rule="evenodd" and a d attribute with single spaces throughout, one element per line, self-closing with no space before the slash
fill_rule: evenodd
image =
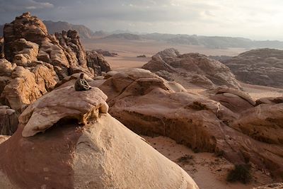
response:
<path id="1" fill-rule="evenodd" d="M 283 173 L 282 103 L 254 107 L 246 93 L 227 88 L 217 89 L 213 101 L 144 69 L 122 71 L 99 88 L 108 95 L 110 114 L 134 132 L 171 137 L 194 151 L 221 154 L 234 164 L 248 161 L 275 177 Z M 249 115 L 251 119 L 245 119 Z"/>

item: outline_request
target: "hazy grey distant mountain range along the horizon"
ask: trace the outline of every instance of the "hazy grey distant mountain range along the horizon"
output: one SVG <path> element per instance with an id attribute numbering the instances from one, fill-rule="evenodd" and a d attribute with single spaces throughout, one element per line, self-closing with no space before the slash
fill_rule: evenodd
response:
<path id="1" fill-rule="evenodd" d="M 77 30 L 82 39 L 122 39 L 122 40 L 156 40 L 167 42 L 172 45 L 202 45 L 212 49 L 226 49 L 231 47 L 237 48 L 277 48 L 283 49 L 283 42 L 278 40 L 250 40 L 248 38 L 232 38 L 218 36 L 202 35 L 181 35 L 181 34 L 163 34 L 149 33 L 139 34 L 132 33 L 129 30 L 115 30 L 112 33 L 99 30 L 93 32 L 84 25 L 74 25 L 62 21 L 43 21 L 47 26 L 49 33 L 61 33 L 62 30 Z M 0 35 L 3 35 L 4 25 L 0 25 Z"/>

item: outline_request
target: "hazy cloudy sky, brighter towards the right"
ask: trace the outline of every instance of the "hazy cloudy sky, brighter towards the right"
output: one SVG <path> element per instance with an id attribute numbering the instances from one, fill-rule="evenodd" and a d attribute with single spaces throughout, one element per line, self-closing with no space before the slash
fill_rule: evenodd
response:
<path id="1" fill-rule="evenodd" d="M 0 23 L 30 11 L 92 30 L 283 40 L 282 0 L 0 0 Z"/>

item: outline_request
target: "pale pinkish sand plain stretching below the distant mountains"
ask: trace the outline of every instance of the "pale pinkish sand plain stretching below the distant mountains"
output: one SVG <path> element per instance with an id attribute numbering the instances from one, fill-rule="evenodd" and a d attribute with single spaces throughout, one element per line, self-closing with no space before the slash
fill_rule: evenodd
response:
<path id="1" fill-rule="evenodd" d="M 199 52 L 204 55 L 236 56 L 239 53 L 246 51 L 246 49 L 241 48 L 217 50 L 194 45 L 171 45 L 165 42 L 151 40 L 83 40 L 83 45 L 86 47 L 86 50 L 102 49 L 116 52 L 119 55 L 118 57 L 105 57 L 113 70 L 142 67 L 149 62 L 152 55 L 170 47 L 174 47 L 179 50 L 180 53 Z M 146 55 L 146 58 L 137 58 L 138 55 Z"/>

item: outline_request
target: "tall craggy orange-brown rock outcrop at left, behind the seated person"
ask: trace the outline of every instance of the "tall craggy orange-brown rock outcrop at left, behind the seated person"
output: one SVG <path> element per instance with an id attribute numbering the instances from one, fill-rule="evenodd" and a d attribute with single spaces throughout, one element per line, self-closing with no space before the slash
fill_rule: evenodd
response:
<path id="1" fill-rule="evenodd" d="M 102 55 L 86 53 L 76 31 L 49 35 L 30 13 L 4 26 L 0 47 L 5 57 L 0 59 L 0 103 L 18 113 L 68 76 L 84 72 L 94 77 L 111 70 Z"/>

